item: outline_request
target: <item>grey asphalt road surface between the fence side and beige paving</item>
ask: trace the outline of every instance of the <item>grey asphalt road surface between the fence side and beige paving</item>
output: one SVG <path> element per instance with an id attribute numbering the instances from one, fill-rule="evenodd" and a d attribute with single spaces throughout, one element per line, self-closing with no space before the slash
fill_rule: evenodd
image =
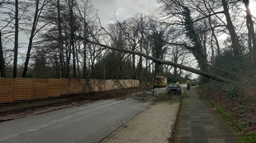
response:
<path id="1" fill-rule="evenodd" d="M 0 123 L 0 143 L 101 141 L 149 107 L 135 99 L 101 100 Z"/>

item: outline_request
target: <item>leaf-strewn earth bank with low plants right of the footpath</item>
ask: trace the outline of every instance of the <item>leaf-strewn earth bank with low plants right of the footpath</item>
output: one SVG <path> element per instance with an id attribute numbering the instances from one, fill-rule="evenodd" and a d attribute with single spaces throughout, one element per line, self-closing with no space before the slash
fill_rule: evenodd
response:
<path id="1" fill-rule="evenodd" d="M 256 141 L 256 99 L 248 90 L 211 81 L 199 88 L 217 114 L 231 126 L 241 142 Z"/>

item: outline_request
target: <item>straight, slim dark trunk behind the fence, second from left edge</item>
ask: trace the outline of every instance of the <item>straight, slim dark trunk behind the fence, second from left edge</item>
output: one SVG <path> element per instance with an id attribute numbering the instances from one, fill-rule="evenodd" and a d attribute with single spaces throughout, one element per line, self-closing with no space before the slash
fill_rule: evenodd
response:
<path id="1" fill-rule="evenodd" d="M 13 69 L 12 78 L 17 77 L 18 38 L 19 38 L 19 6 L 18 6 L 18 0 L 15 0 L 14 69 Z"/>

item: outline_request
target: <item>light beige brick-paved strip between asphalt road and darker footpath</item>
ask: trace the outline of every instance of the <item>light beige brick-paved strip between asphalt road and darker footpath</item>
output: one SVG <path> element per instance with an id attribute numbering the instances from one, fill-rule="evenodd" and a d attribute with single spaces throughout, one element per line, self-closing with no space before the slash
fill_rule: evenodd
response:
<path id="1" fill-rule="evenodd" d="M 101 143 L 169 142 L 180 102 L 159 102 L 134 117 Z"/>

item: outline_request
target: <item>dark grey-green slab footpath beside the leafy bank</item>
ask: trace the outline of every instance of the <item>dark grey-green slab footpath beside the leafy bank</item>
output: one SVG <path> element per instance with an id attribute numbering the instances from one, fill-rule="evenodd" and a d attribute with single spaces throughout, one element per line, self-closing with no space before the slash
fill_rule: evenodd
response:
<path id="1" fill-rule="evenodd" d="M 199 99 L 194 89 L 183 98 L 176 141 L 180 143 L 236 143 L 231 129 L 211 110 L 208 102 Z"/>

